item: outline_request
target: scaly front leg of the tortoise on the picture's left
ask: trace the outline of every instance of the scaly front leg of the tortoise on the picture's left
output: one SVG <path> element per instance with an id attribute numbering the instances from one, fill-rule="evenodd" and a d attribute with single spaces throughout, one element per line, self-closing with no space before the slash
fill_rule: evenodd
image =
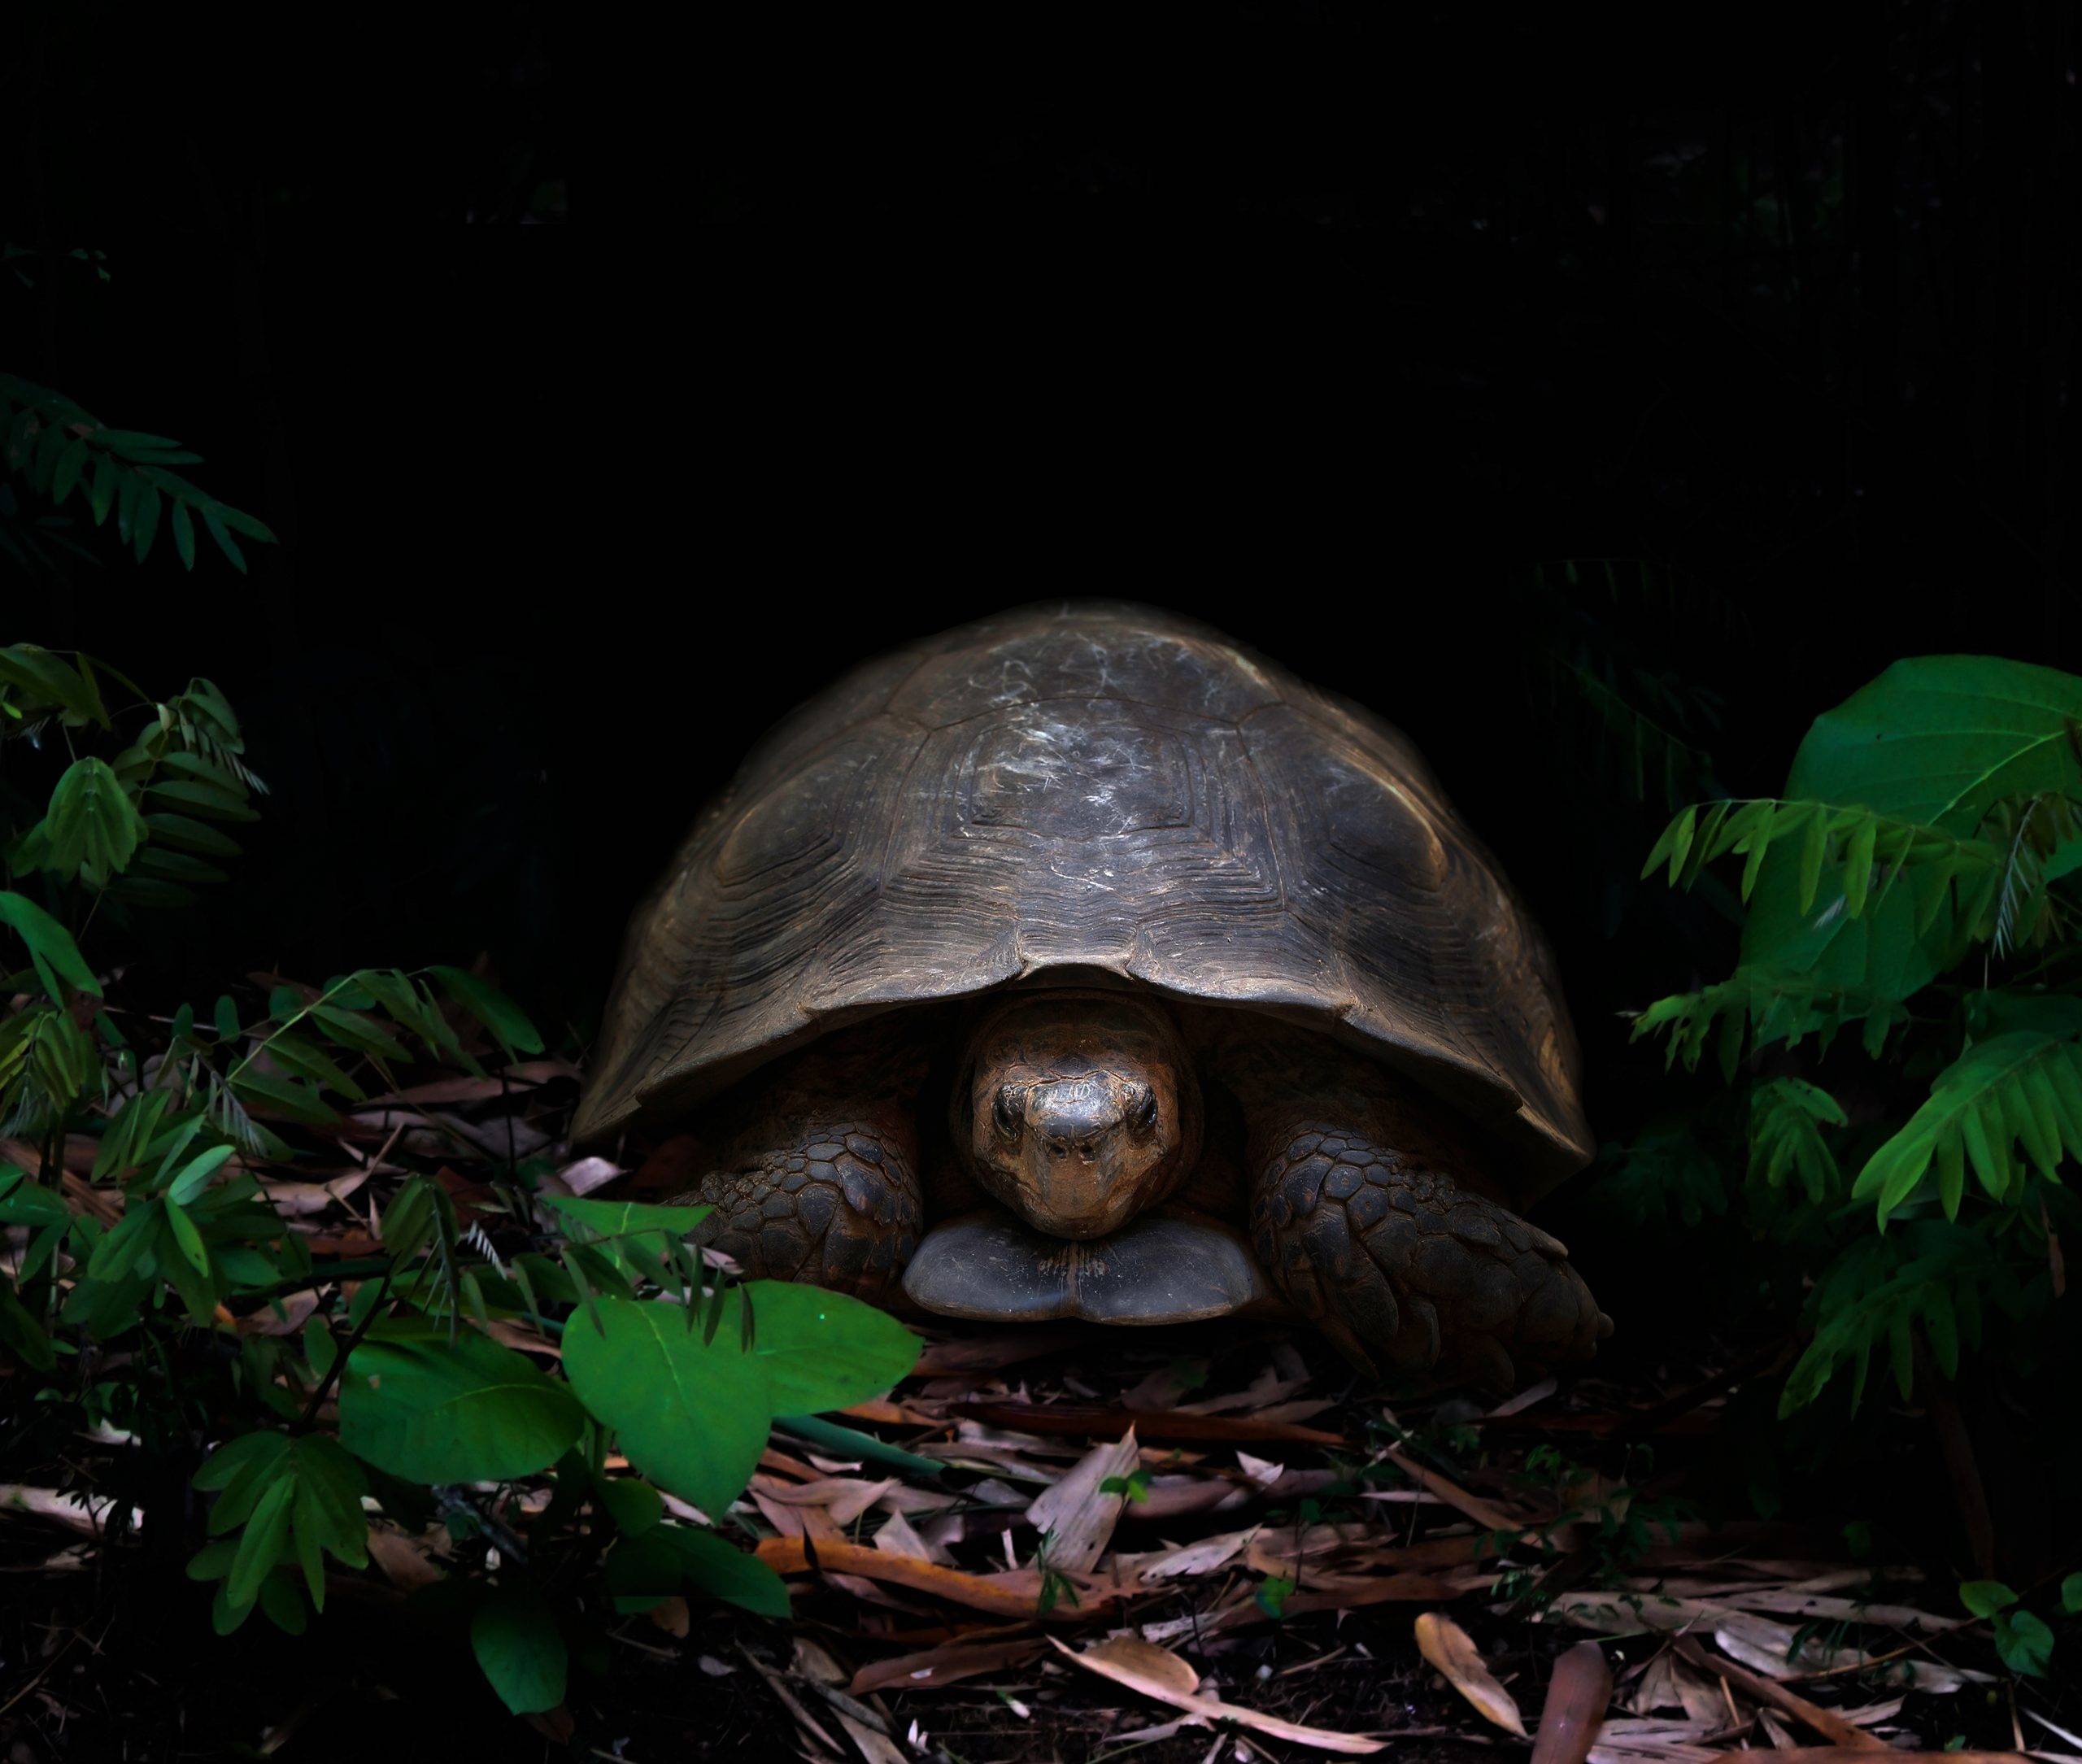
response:
<path id="1" fill-rule="evenodd" d="M 720 1156 L 681 1202 L 716 1208 L 710 1243 L 747 1275 L 870 1302 L 918 1248 L 918 1125 L 887 1062 L 810 1054 L 739 1100 Z"/>

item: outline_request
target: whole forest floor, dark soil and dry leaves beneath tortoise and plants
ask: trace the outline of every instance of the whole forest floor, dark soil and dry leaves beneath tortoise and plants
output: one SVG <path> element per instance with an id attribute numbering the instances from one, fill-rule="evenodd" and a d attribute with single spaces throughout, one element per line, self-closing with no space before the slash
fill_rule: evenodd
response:
<path id="1" fill-rule="evenodd" d="M 414 1152 L 464 1212 L 487 1204 L 456 1148 L 523 1127 L 556 1164 L 564 1075 L 545 1062 L 520 1104 L 512 1085 L 423 1085 L 402 1100 L 429 1137 L 400 1143 L 377 1110 L 383 1150 L 346 1158 L 314 1206 L 300 1166 L 283 1210 L 323 1254 L 366 1254 L 383 1156 Z M 600 1160 L 548 1177 L 604 1179 Z M 608 1618 L 568 1704 L 525 1722 L 427 1616 L 462 1566 L 439 1527 L 379 1522 L 377 1566 L 333 1577 L 306 1637 L 219 1639 L 181 1572 L 192 1493 L 169 1495 L 179 1524 L 104 1545 L 106 1510 L 77 1495 L 121 1481 L 123 1441 L 10 1460 L 0 1764 L 1495 1760 L 1534 1733 L 1537 1764 L 2082 1760 L 2082 1685 L 2003 1668 L 1959 1606 L 1949 1514 L 1893 1547 L 1853 1514 L 1699 1500 L 1726 1485 L 1730 1391 L 1778 1343 L 1699 1329 L 1653 1370 L 1622 1358 L 1476 1404 L 1385 1395 L 1287 1327 L 922 1335 L 887 1397 L 814 1437 L 777 1427 L 731 1514 L 789 1579 L 791 1624 L 683 1599 Z M 481 1497 L 523 1535 L 539 1506 L 527 1485 Z"/>

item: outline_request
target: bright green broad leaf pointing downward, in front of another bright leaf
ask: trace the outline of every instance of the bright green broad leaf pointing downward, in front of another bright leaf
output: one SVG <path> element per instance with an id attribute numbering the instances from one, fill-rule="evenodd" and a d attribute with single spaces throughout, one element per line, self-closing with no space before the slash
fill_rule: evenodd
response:
<path id="1" fill-rule="evenodd" d="M 772 1418 L 766 1370 L 739 1331 L 702 1341 L 683 1306 L 602 1297 L 564 1329 L 564 1375 L 654 1483 L 722 1518 Z"/>

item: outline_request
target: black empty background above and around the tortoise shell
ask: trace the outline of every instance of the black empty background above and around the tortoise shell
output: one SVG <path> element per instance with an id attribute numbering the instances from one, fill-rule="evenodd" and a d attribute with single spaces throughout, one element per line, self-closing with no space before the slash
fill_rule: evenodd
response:
<path id="1" fill-rule="evenodd" d="M 31 15 L 10 237 L 110 279 L 29 264 L 8 367 L 283 537 L 8 587 L 248 719 L 275 802 L 169 991 L 485 950 L 583 1037 L 779 712 L 1133 596 L 1418 739 L 1611 1133 L 1618 1012 L 1728 952 L 1632 883 L 1670 798 L 1770 793 L 1895 656 L 2078 660 L 2063 4 L 766 10 L 616 50 L 583 229 L 566 10 Z"/>

